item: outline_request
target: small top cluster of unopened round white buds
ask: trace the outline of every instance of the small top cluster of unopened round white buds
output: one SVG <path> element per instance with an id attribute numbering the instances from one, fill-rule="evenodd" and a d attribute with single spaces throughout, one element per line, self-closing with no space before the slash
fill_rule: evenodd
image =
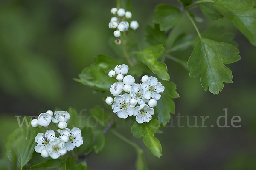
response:
<path id="1" fill-rule="evenodd" d="M 131 21 L 130 24 L 128 23 L 128 21 L 126 21 L 126 19 L 131 18 L 131 12 L 125 12 L 125 9 L 122 8 L 112 8 L 110 12 L 114 14 L 115 17 L 111 18 L 108 27 L 111 29 L 116 29 L 116 31 L 114 31 L 115 37 L 120 37 L 121 32 L 127 31 L 129 27 L 133 30 L 136 30 L 139 27 L 139 23 L 137 21 Z"/>

